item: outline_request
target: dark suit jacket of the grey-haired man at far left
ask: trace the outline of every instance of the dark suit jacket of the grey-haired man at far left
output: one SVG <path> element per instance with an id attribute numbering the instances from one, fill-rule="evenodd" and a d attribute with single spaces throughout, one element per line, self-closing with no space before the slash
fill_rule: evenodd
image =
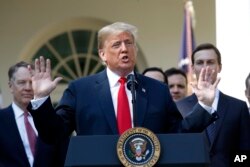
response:
<path id="1" fill-rule="evenodd" d="M 56 167 L 56 149 L 38 137 L 34 167 Z M 0 167 L 29 167 L 11 105 L 0 110 Z"/>

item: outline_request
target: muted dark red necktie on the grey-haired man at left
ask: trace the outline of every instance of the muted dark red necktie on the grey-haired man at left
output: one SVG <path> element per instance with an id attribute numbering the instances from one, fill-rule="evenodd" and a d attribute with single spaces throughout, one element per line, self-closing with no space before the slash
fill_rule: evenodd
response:
<path id="1" fill-rule="evenodd" d="M 36 133 L 28 120 L 28 112 L 24 112 L 24 124 L 25 124 L 26 132 L 27 132 L 27 136 L 28 136 L 28 140 L 30 144 L 30 149 L 34 156 L 35 147 L 36 147 Z"/>

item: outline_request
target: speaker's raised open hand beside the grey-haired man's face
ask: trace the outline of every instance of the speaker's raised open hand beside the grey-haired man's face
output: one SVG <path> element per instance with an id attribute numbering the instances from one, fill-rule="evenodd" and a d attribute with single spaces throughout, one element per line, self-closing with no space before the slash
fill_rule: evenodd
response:
<path id="1" fill-rule="evenodd" d="M 29 69 L 31 71 L 31 67 L 29 67 Z M 34 99 L 49 96 L 56 88 L 58 82 L 62 80 L 62 77 L 57 77 L 52 80 L 50 59 L 45 61 L 43 56 L 39 59 L 35 59 L 35 69 L 31 72 Z"/>

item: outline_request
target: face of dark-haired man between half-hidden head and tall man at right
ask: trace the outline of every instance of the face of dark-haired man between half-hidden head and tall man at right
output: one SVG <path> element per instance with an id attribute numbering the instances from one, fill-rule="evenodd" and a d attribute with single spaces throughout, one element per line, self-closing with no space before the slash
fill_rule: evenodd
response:
<path id="1" fill-rule="evenodd" d="M 165 71 L 165 76 L 174 101 L 187 96 L 188 85 L 185 72 L 177 68 L 169 68 Z"/>

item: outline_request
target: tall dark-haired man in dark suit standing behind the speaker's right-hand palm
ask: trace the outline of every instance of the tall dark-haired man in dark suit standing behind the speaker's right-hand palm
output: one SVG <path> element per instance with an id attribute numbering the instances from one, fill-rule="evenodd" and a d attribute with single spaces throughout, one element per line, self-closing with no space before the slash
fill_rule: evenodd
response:
<path id="1" fill-rule="evenodd" d="M 211 74 L 212 82 L 216 80 L 222 64 L 221 54 L 214 45 L 209 43 L 199 45 L 193 51 L 191 59 L 196 77 L 199 77 L 203 67 L 209 66 L 215 71 Z M 192 94 L 177 102 L 177 107 L 183 117 L 190 114 L 197 101 L 195 94 Z M 233 162 L 233 155 L 237 151 L 250 151 L 250 119 L 247 105 L 242 100 L 216 90 L 212 107 L 218 114 L 218 119 L 211 124 L 214 132 L 209 135 L 212 126 L 204 131 L 210 141 L 211 166 L 228 167 Z"/>

